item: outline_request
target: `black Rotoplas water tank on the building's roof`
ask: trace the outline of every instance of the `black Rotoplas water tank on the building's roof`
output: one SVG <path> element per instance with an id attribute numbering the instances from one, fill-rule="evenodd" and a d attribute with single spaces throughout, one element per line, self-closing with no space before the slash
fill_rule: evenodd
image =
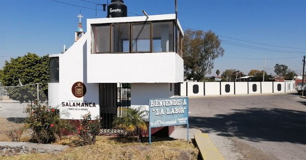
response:
<path id="1" fill-rule="evenodd" d="M 127 8 L 122 0 L 112 0 L 107 7 L 107 18 L 126 17 Z"/>

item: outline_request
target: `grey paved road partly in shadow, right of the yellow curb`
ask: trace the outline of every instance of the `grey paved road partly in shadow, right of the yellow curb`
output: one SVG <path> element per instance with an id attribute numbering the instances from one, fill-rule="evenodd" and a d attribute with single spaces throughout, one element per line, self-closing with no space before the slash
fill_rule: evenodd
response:
<path id="1" fill-rule="evenodd" d="M 190 98 L 189 110 L 225 159 L 306 159 L 306 99 L 296 93 Z"/>

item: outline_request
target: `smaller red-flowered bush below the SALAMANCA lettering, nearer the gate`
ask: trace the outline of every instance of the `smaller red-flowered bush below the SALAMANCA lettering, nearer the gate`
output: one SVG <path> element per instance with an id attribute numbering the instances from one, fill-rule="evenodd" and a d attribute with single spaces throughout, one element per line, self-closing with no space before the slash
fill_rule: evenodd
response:
<path id="1" fill-rule="evenodd" d="M 79 138 L 75 143 L 81 146 L 94 144 L 100 129 L 99 117 L 91 118 L 91 114 L 88 112 L 82 116 L 79 122 L 80 126 L 77 124 L 70 126 L 70 131 Z"/>

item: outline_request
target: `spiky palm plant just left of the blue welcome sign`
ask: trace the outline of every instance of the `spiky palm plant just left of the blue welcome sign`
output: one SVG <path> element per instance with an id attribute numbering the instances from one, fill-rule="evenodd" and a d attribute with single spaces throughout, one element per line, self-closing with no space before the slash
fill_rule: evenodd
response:
<path id="1" fill-rule="evenodd" d="M 114 129 L 121 129 L 130 136 L 136 136 L 138 142 L 143 142 L 141 131 L 147 130 L 148 111 L 144 108 L 126 109 L 121 116 L 117 116 L 113 121 Z"/>

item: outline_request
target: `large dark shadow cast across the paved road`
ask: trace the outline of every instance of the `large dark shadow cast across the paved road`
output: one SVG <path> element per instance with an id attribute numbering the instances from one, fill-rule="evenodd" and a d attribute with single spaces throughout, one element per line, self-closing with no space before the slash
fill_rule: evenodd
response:
<path id="1" fill-rule="evenodd" d="M 189 117 L 203 133 L 238 137 L 254 142 L 306 144 L 306 112 L 278 108 L 246 108 L 215 117 Z"/>

